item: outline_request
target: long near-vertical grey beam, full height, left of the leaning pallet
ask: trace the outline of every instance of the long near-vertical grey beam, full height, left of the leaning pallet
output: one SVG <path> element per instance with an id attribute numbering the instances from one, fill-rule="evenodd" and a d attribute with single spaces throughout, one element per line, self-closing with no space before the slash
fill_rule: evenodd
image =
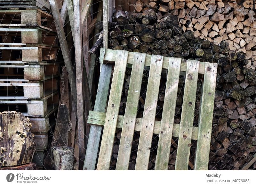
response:
<path id="1" fill-rule="evenodd" d="M 82 43 L 81 43 L 81 27 L 80 27 L 80 8 L 79 1 L 74 1 L 74 27 L 75 27 L 75 58 L 76 58 L 76 87 L 77 87 L 77 126 L 78 126 L 78 142 L 79 142 L 79 162 L 85 154 L 84 143 L 84 100 L 83 100 L 83 67 L 82 67 Z M 80 165 L 80 163 L 79 163 Z"/>

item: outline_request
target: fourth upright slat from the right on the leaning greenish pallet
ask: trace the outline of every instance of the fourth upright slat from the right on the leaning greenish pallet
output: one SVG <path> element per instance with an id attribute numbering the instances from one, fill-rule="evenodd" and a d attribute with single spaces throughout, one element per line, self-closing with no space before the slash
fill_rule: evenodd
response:
<path id="1" fill-rule="evenodd" d="M 163 56 L 152 55 L 135 170 L 148 170 Z"/>

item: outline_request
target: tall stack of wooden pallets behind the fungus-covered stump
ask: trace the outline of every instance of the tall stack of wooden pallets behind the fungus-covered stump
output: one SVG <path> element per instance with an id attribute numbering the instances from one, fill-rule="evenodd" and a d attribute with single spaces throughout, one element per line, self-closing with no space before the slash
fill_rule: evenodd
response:
<path id="1" fill-rule="evenodd" d="M 34 161 L 44 165 L 49 131 L 59 103 L 59 46 L 52 15 L 40 10 L 0 10 L 0 104 L 30 118 Z"/>

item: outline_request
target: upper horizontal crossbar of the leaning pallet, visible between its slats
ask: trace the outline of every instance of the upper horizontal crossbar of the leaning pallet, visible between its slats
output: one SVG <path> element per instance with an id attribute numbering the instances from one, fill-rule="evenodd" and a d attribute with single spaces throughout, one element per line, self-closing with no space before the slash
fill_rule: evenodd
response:
<path id="1" fill-rule="evenodd" d="M 132 64 L 133 57 L 134 57 L 134 53 L 129 52 L 128 62 L 127 62 L 128 65 Z M 151 59 L 151 55 L 146 54 L 145 66 L 150 66 L 150 59 Z M 110 62 L 115 62 L 115 60 L 116 60 L 116 50 L 106 49 L 104 61 L 110 63 Z M 163 69 L 168 69 L 168 67 L 169 67 L 169 57 L 164 57 Z M 205 67 L 205 63 L 199 62 L 199 71 L 198 71 L 199 74 L 204 74 L 204 67 Z M 181 60 L 180 71 L 182 72 L 187 71 L 187 60 Z"/>

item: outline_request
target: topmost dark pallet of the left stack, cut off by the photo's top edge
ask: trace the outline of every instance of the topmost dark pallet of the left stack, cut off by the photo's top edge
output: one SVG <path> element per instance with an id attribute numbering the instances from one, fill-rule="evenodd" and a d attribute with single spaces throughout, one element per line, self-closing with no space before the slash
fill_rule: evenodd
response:
<path id="1" fill-rule="evenodd" d="M 39 8 L 51 10 L 47 0 L 1 0 L 0 8 Z"/>

